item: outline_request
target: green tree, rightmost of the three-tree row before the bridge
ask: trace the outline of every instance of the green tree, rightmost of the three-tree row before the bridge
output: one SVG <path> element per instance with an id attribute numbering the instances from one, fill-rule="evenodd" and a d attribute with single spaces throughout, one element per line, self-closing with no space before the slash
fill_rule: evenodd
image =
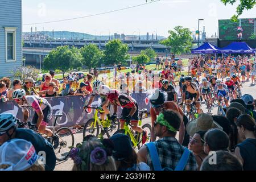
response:
<path id="1" fill-rule="evenodd" d="M 125 63 L 129 59 L 127 44 L 123 44 L 121 40 L 111 40 L 105 46 L 104 51 L 104 64 L 110 65 L 114 63 Z"/>

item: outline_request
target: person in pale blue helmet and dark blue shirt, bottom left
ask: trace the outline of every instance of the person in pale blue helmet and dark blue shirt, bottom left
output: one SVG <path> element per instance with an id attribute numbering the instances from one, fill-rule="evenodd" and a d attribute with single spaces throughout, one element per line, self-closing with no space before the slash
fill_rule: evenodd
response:
<path id="1" fill-rule="evenodd" d="M 56 156 L 51 143 L 33 130 L 16 128 L 17 119 L 13 114 L 0 114 L 0 146 L 10 139 L 24 139 L 35 147 L 36 154 L 43 152 L 46 171 L 53 171 L 56 165 Z M 40 152 L 40 153 L 39 153 Z"/>

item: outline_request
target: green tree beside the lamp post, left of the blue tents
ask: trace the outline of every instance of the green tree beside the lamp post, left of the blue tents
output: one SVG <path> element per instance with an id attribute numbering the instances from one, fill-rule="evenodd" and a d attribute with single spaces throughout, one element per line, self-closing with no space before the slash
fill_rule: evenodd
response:
<path id="1" fill-rule="evenodd" d="M 170 35 L 166 40 L 162 40 L 160 44 L 170 46 L 171 52 L 173 52 L 174 55 L 190 52 L 192 48 L 192 38 L 189 28 L 176 26 L 174 31 L 169 30 L 168 32 Z"/>

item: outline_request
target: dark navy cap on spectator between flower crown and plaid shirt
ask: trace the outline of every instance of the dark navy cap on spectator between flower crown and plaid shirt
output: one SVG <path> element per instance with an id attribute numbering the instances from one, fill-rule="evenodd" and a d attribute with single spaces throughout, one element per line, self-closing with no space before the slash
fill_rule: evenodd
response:
<path id="1" fill-rule="evenodd" d="M 109 138 L 114 144 L 113 157 L 115 160 L 129 159 L 133 152 L 131 140 L 125 134 L 114 134 Z"/>

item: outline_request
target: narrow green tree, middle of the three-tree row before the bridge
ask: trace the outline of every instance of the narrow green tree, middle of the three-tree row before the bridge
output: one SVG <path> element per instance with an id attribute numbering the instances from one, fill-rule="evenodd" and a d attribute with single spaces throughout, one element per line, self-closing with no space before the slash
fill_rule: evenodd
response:
<path id="1" fill-rule="evenodd" d="M 82 47 L 80 52 L 82 54 L 82 64 L 86 65 L 89 69 L 97 67 L 104 55 L 95 44 L 89 44 L 88 46 Z"/>

